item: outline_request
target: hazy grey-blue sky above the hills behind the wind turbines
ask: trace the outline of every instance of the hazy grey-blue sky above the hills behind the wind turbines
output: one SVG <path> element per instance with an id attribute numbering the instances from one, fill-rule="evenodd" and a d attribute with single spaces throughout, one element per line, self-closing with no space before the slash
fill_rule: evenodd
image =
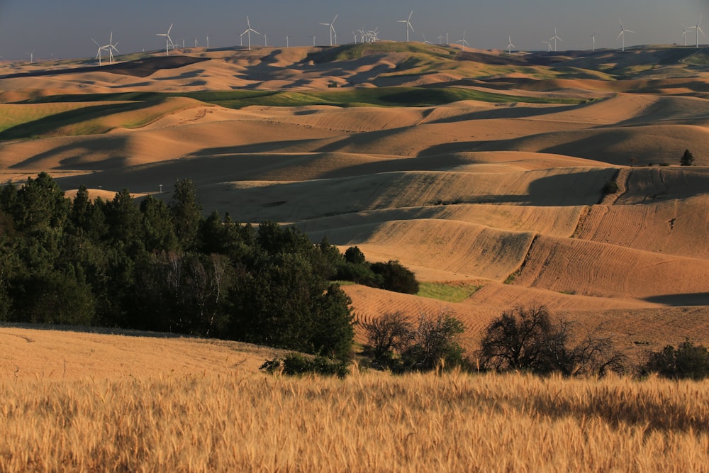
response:
<path id="1" fill-rule="evenodd" d="M 683 26 L 696 25 L 709 35 L 709 0 L 0 0 L 0 56 L 3 60 L 94 57 L 95 38 L 101 45 L 118 42 L 121 53 L 164 49 L 165 33 L 175 43 L 210 48 L 240 45 L 246 17 L 265 33 L 269 46 L 329 45 L 327 26 L 337 14 L 337 43 L 352 43 L 352 30 L 379 27 L 383 40 L 406 40 L 406 25 L 413 10 L 410 40 L 433 43 L 446 33 L 450 43 L 462 38 L 471 48 L 504 49 L 508 35 L 518 50 L 542 50 L 554 35 L 557 50 L 620 48 L 618 19 L 635 33 L 627 33 L 625 46 L 683 44 Z M 696 41 L 696 30 L 687 43 Z M 246 41 L 246 40 L 244 40 Z M 264 38 L 252 35 L 252 45 Z M 699 43 L 709 38 L 699 34 Z M 244 43 L 246 44 L 246 43 Z"/>

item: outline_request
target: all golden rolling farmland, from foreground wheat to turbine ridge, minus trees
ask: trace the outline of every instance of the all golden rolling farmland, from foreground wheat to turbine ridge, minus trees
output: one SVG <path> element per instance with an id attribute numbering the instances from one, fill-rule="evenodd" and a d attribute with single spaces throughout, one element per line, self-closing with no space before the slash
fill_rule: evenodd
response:
<path id="1" fill-rule="evenodd" d="M 469 348 L 527 304 L 603 324 L 633 360 L 709 344 L 705 52 L 542 56 L 381 43 L 0 62 L 0 182 L 45 171 L 69 196 L 169 200 L 189 178 L 205 213 L 399 260 L 436 291 L 345 286 L 357 320 L 447 309 Z M 199 95 L 214 92 L 262 97 Z M 473 289 L 432 297 L 446 287 Z M 275 350 L 26 328 L 0 328 L 0 346 L 1 471 L 709 471 L 706 382 L 286 379 L 257 372 Z"/>

